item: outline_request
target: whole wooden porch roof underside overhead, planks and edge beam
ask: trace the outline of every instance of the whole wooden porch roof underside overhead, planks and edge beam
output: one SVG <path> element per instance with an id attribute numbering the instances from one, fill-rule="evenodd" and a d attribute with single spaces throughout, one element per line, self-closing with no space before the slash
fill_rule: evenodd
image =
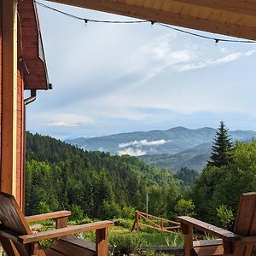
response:
<path id="1" fill-rule="evenodd" d="M 49 0 L 256 40 L 256 0 Z"/>

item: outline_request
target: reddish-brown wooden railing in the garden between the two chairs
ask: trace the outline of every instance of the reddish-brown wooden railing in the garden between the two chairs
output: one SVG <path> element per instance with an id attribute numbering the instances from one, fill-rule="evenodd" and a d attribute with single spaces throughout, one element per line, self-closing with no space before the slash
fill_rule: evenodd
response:
<path id="1" fill-rule="evenodd" d="M 154 230 L 161 230 L 169 233 L 175 233 L 180 229 L 180 224 L 166 218 L 160 218 L 146 212 L 136 212 L 136 218 L 132 225 L 131 231 L 139 231 L 139 227 L 148 227 Z"/>

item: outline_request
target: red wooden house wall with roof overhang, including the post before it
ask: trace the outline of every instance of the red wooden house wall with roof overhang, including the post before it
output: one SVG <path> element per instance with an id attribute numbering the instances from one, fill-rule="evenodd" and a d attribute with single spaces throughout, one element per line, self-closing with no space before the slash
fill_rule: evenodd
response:
<path id="1" fill-rule="evenodd" d="M 33 0 L 0 0 L 0 189 L 24 209 L 24 90 L 48 90 Z"/>

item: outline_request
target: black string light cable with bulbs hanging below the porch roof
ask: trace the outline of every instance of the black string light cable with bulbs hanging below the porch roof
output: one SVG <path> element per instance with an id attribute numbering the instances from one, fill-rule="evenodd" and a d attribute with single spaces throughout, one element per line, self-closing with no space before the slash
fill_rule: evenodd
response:
<path id="1" fill-rule="evenodd" d="M 177 32 L 182 32 L 182 33 L 185 33 L 185 34 L 189 34 L 190 36 L 194 36 L 194 37 L 198 37 L 198 38 L 204 38 L 204 39 L 209 39 L 209 40 L 214 41 L 216 44 L 218 42 L 241 43 L 241 44 L 256 44 L 256 41 L 253 41 L 253 40 L 237 40 L 237 39 L 224 39 L 224 38 L 208 37 L 208 36 L 196 33 L 196 32 L 189 32 L 188 30 L 183 30 L 183 29 L 177 28 L 175 26 L 169 26 L 169 25 L 166 25 L 166 24 L 163 24 L 163 23 L 159 23 L 159 22 L 156 22 L 154 20 L 91 20 L 91 19 L 87 19 L 87 18 L 84 18 L 84 17 L 80 17 L 78 15 L 72 15 L 70 13 L 61 11 L 60 9 L 55 9 L 53 7 L 50 7 L 47 4 L 44 4 L 44 3 L 41 3 L 41 2 L 38 2 L 38 1 L 35 1 L 35 3 L 37 3 L 38 6 L 40 6 L 40 7 L 43 7 L 45 9 L 50 9 L 50 10 L 55 11 L 55 12 L 61 14 L 61 15 L 66 15 L 69 18 L 72 18 L 72 19 L 75 19 L 75 20 L 82 20 L 82 21 L 84 21 L 85 24 L 87 24 L 88 22 L 109 23 L 109 24 L 150 23 L 151 26 L 153 26 L 154 24 L 157 24 L 158 26 L 164 26 L 164 27 L 166 27 L 168 29 L 172 29 L 172 30 L 177 31 Z"/>

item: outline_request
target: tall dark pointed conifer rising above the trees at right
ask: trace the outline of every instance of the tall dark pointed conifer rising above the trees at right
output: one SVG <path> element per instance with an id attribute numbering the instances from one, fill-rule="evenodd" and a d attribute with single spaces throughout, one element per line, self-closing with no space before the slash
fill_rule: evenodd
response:
<path id="1" fill-rule="evenodd" d="M 232 162 L 234 154 L 233 143 L 231 143 L 228 129 L 226 129 L 224 122 L 221 121 L 216 136 L 213 140 L 211 160 L 208 165 L 211 166 L 225 166 Z"/>

